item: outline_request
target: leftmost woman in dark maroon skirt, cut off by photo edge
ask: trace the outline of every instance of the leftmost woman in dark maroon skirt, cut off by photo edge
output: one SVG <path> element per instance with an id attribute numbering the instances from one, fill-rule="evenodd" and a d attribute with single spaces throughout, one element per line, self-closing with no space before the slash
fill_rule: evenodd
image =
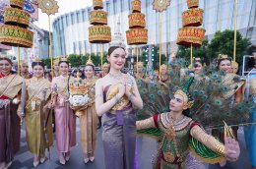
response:
<path id="1" fill-rule="evenodd" d="M 12 74 L 13 63 L 7 56 L 0 57 L 0 169 L 8 168 L 14 153 L 20 148 L 20 118 L 15 99 L 22 88 L 23 79 Z"/>

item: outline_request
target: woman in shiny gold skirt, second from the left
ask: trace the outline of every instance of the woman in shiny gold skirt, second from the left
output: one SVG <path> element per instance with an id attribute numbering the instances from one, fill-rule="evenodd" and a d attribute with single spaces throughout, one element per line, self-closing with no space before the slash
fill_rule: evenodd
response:
<path id="1" fill-rule="evenodd" d="M 51 111 L 51 84 L 43 77 L 44 64 L 36 60 L 32 62 L 33 77 L 26 81 L 26 140 L 29 150 L 33 154 L 33 166 L 43 163 L 45 158 L 45 149 L 53 143 L 52 134 L 52 115 Z M 24 93 L 22 93 L 23 95 Z M 24 112 L 22 104 L 19 105 L 18 113 L 20 117 Z"/>

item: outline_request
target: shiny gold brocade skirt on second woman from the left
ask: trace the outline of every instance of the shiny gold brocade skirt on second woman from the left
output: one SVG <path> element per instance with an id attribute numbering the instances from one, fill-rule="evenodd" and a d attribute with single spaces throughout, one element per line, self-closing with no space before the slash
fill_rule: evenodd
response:
<path id="1" fill-rule="evenodd" d="M 52 112 L 43 112 L 41 102 L 36 102 L 35 107 L 29 103 L 26 108 L 26 140 L 33 154 L 44 155 L 45 149 L 53 144 Z"/>

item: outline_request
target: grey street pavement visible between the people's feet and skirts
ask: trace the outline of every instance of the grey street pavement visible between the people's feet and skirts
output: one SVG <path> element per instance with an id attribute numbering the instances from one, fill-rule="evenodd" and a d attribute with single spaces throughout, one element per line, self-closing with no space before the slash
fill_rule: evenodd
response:
<path id="1" fill-rule="evenodd" d="M 223 169 L 250 169 L 250 164 L 248 162 L 248 155 L 245 148 L 245 143 L 243 139 L 243 131 L 238 130 L 238 140 L 241 146 L 241 154 L 236 162 L 227 162 Z M 40 164 L 38 169 L 104 169 L 104 158 L 103 149 L 101 141 L 101 130 L 97 132 L 97 143 L 96 143 L 96 160 L 94 163 L 90 162 L 85 164 L 83 161 L 83 152 L 80 144 L 80 129 L 79 124 L 77 124 L 77 145 L 71 150 L 71 158 L 66 165 L 61 165 L 58 161 L 58 154 L 56 150 L 56 142 L 54 141 L 54 147 L 50 150 L 50 159 L 45 161 L 45 163 Z M 138 169 L 151 169 L 152 160 L 154 154 L 157 152 L 157 141 L 148 138 L 138 137 L 137 139 L 137 150 L 136 158 Z M 48 156 L 48 153 L 46 152 Z M 206 165 L 208 168 L 208 165 Z M 26 133 L 25 127 L 22 129 L 22 140 L 21 149 L 16 154 L 10 169 L 31 169 L 32 168 L 32 153 L 28 151 L 26 143 Z M 210 165 L 209 169 L 219 169 L 219 165 Z"/>

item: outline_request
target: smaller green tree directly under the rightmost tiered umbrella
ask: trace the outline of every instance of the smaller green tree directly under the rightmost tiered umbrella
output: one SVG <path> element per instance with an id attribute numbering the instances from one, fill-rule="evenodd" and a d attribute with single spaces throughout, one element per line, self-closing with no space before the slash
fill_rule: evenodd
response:
<path id="1" fill-rule="evenodd" d="M 207 55 L 207 48 L 208 48 L 208 40 L 205 39 L 201 46 L 193 46 L 193 57 L 201 58 L 204 63 L 209 64 L 211 62 L 211 57 Z M 190 56 L 191 55 L 191 47 L 190 46 L 178 46 L 177 51 L 177 58 L 185 58 L 186 61 L 190 63 Z"/>

